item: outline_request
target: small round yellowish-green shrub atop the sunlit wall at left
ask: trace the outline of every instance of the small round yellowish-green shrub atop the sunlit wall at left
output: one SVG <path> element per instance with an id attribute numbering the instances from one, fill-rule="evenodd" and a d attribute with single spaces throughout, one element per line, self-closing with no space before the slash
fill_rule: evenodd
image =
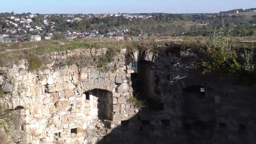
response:
<path id="1" fill-rule="evenodd" d="M 34 70 L 39 70 L 40 68 L 42 68 L 43 61 L 37 55 L 30 54 L 27 56 L 27 60 L 28 60 L 28 69 L 29 70 L 34 71 Z"/>

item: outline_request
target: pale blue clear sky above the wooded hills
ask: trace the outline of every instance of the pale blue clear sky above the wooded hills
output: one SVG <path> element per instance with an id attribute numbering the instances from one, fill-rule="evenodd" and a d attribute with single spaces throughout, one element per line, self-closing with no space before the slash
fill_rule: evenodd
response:
<path id="1" fill-rule="evenodd" d="M 207 13 L 256 8 L 255 0 L 0 0 L 0 12 L 69 13 Z"/>

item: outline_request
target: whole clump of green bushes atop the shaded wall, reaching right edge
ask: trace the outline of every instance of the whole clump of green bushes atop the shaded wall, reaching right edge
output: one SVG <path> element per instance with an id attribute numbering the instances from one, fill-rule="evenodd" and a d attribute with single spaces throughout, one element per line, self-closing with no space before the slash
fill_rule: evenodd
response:
<path id="1" fill-rule="evenodd" d="M 228 74 L 254 71 L 253 51 L 245 50 L 241 54 L 244 63 L 238 62 L 238 53 L 228 44 L 230 30 L 226 30 L 223 20 L 222 26 L 212 31 L 206 40 L 206 45 L 201 45 L 198 54 L 198 57 L 201 57 L 203 74 L 220 71 Z"/>

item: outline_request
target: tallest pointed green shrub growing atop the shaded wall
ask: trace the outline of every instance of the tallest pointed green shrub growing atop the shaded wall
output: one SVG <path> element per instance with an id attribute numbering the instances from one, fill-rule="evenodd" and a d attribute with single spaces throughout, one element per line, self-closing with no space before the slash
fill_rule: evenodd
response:
<path id="1" fill-rule="evenodd" d="M 202 48 L 204 57 L 201 59 L 204 74 L 220 70 L 234 73 L 241 69 L 241 65 L 237 61 L 236 51 L 228 44 L 229 33 L 230 30 L 226 32 L 222 21 L 222 27 L 214 29 L 207 38 L 206 48 Z"/>

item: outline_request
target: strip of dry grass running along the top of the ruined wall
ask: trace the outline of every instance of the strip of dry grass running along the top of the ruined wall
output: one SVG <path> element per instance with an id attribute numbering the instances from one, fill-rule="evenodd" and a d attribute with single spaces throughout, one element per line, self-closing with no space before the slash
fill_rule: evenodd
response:
<path id="1" fill-rule="evenodd" d="M 245 40 L 246 38 L 231 38 L 232 40 Z M 164 42 L 172 42 L 181 45 L 196 44 L 196 40 L 201 40 L 202 43 L 206 40 L 205 37 L 150 37 L 144 40 L 119 41 L 114 38 L 90 38 L 90 39 L 74 39 L 74 40 L 42 40 L 40 42 L 22 42 L 22 43 L 0 43 L 0 64 L 9 66 L 18 60 L 26 58 L 29 54 L 45 56 L 49 52 L 59 52 L 74 49 L 87 48 L 110 48 L 120 50 L 126 48 L 128 51 L 135 49 L 154 49 L 156 45 Z M 253 38 L 248 38 L 253 40 Z M 230 43 L 235 48 L 256 48 L 256 45 L 250 43 Z"/>

